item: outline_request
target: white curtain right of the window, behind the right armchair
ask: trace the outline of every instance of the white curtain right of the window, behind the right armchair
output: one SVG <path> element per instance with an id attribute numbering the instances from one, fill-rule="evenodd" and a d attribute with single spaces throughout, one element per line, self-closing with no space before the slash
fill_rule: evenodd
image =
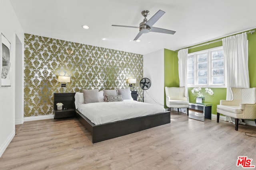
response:
<path id="1" fill-rule="evenodd" d="M 231 87 L 250 88 L 247 33 L 226 37 L 222 39 L 222 44 L 227 85 L 226 100 L 232 100 Z M 230 117 L 226 117 L 226 120 L 234 123 L 234 119 Z"/>

